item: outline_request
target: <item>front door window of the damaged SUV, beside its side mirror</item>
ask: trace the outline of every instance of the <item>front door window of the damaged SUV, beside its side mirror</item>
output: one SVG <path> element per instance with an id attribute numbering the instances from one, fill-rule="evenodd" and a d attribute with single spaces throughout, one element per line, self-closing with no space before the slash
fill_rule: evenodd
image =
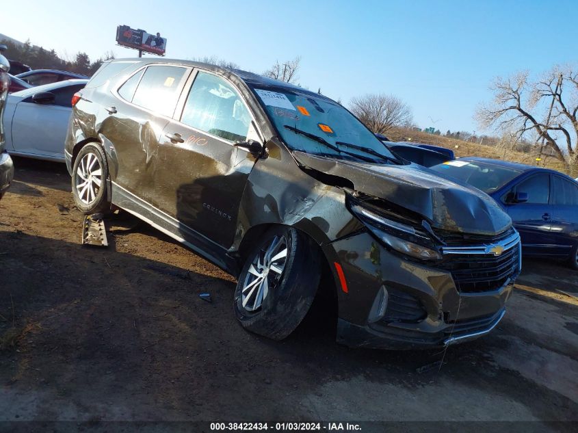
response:
<path id="1" fill-rule="evenodd" d="M 187 96 L 181 122 L 229 142 L 244 142 L 251 124 L 249 111 L 229 83 L 199 72 Z"/>

